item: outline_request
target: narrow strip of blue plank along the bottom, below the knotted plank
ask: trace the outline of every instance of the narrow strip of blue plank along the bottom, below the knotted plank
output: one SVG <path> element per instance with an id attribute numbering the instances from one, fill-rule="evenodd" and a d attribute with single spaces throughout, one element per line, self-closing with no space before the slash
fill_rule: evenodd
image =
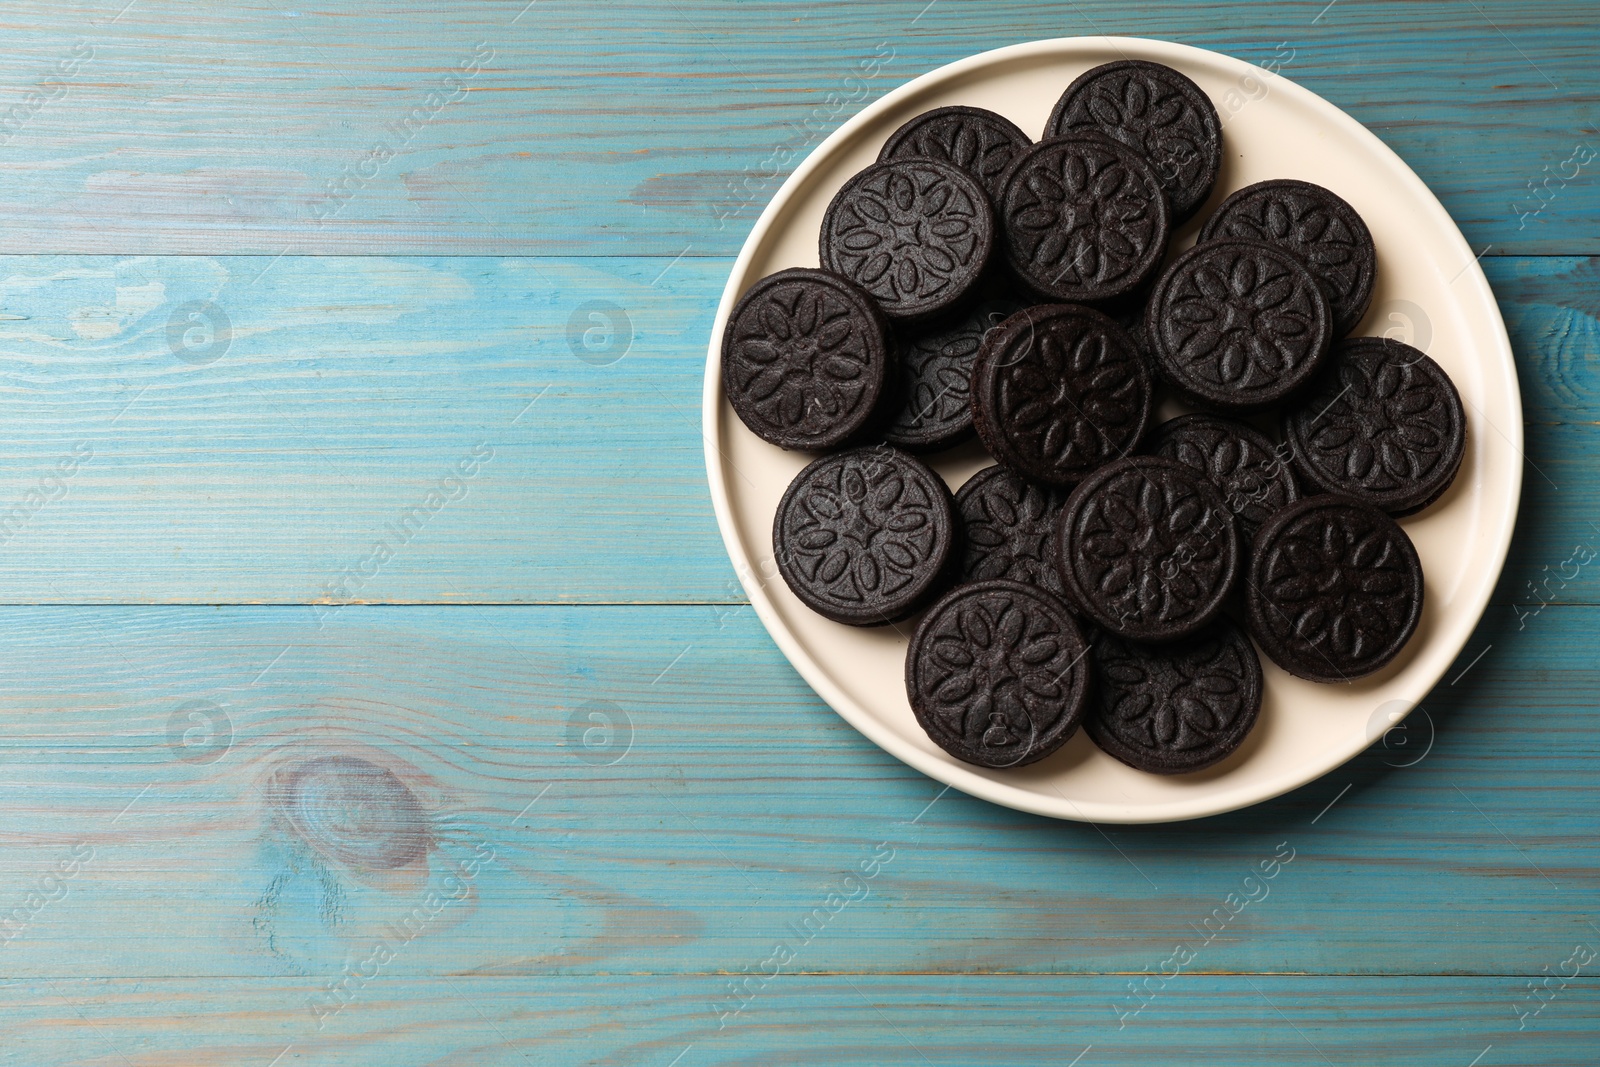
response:
<path id="1" fill-rule="evenodd" d="M 405 949 L 402 949 L 405 952 Z M 1142 979 L 1141 979 L 1142 981 Z M 718 1029 L 728 977 L 395 977 L 317 1016 L 317 977 L 18 981 L 8 1064 L 1394 1064 L 1592 1067 L 1592 979 L 1518 1030 L 1526 979 L 790 976 Z M 1152 982 L 1152 989 L 1157 984 Z M 1557 982 L 1550 984 L 1557 989 Z M 179 1008 L 181 1006 L 181 1008 Z M 318 1022 L 322 1029 L 318 1029 Z"/>

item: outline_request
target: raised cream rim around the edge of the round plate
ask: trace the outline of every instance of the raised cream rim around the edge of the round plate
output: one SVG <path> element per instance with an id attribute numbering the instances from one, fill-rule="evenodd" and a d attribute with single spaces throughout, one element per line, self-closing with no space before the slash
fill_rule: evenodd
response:
<path id="1" fill-rule="evenodd" d="M 936 753 L 923 752 L 915 749 L 899 739 L 898 734 L 890 731 L 886 726 L 880 725 L 875 717 L 867 713 L 864 709 L 858 707 L 856 702 L 842 693 L 829 680 L 822 665 L 806 651 L 789 627 L 778 616 L 773 608 L 771 600 L 766 595 L 763 582 L 755 576 L 755 568 L 750 563 L 749 555 L 744 550 L 744 544 L 738 537 L 738 526 L 733 518 L 733 510 L 728 498 L 726 478 L 722 470 L 725 456 L 722 453 L 720 437 L 718 437 L 718 421 L 722 414 L 722 336 L 728 323 L 728 317 L 733 310 L 733 304 L 738 301 L 744 286 L 741 282 L 749 270 L 750 261 L 755 258 L 757 248 L 765 242 L 768 230 L 773 227 L 776 218 L 786 210 L 789 202 L 803 189 L 811 178 L 811 173 L 822 166 L 837 146 L 853 141 L 862 126 L 867 126 L 877 120 L 877 117 L 886 110 L 891 110 L 896 104 L 909 96 L 923 93 L 928 88 L 934 88 L 946 82 L 954 82 L 962 78 L 973 70 L 989 67 L 994 64 L 1003 64 L 1018 59 L 1032 59 L 1038 56 L 1050 56 L 1054 53 L 1066 53 L 1070 50 L 1085 48 L 1112 48 L 1122 51 L 1123 45 L 1131 45 L 1139 50 L 1139 58 L 1155 58 L 1168 61 L 1176 61 L 1178 66 L 1186 58 L 1205 58 L 1206 62 L 1221 62 L 1224 67 L 1232 67 L 1240 75 L 1250 74 L 1259 77 L 1261 67 L 1229 56 L 1226 53 L 1213 51 L 1210 48 L 1198 48 L 1195 45 L 1184 45 L 1179 42 L 1166 42 L 1149 37 L 1050 37 L 1030 42 L 1021 42 L 1016 45 L 1005 45 L 1002 48 L 990 48 L 981 53 L 974 53 L 963 59 L 934 67 L 926 70 L 915 78 L 910 78 L 904 85 L 899 85 L 878 99 L 872 101 L 859 112 L 850 117 L 843 125 L 840 125 L 834 133 L 826 136 L 800 165 L 784 179 L 778 192 L 768 202 L 766 208 L 757 218 L 750 232 L 744 238 L 744 245 L 739 248 L 739 254 L 728 272 L 728 282 L 723 286 L 722 299 L 717 304 L 717 315 L 712 322 L 710 342 L 707 349 L 706 363 L 706 381 L 701 398 L 701 437 L 704 443 L 706 458 L 706 474 L 710 488 L 712 510 L 717 515 L 717 530 L 722 534 L 723 547 L 728 550 L 728 558 L 733 563 L 736 577 L 744 589 L 750 606 L 755 609 L 757 617 L 766 629 L 768 637 L 778 645 L 784 657 L 795 669 L 797 673 L 811 686 L 811 689 L 826 702 L 835 715 L 850 723 L 858 733 L 867 737 L 872 744 L 878 745 L 883 752 L 890 753 L 901 763 L 926 774 L 928 777 L 978 797 L 979 800 L 987 800 L 989 803 L 1000 805 L 1003 808 L 1011 808 L 1014 811 L 1027 811 L 1038 816 L 1074 821 L 1074 822 L 1114 822 L 1114 824 L 1166 824 L 1166 822 L 1184 822 L 1189 819 L 1203 819 L 1214 814 L 1226 814 L 1229 811 L 1238 811 L 1258 803 L 1266 803 L 1277 797 L 1283 797 L 1307 782 L 1317 781 L 1318 777 L 1330 774 L 1339 766 L 1349 763 L 1352 758 L 1365 752 L 1376 737 L 1368 737 L 1360 744 L 1336 749 L 1330 755 L 1326 765 L 1318 765 L 1312 771 L 1296 771 L 1286 777 L 1272 779 L 1270 784 L 1262 789 L 1259 785 L 1238 787 L 1235 790 L 1218 790 L 1214 793 L 1203 793 L 1198 797 L 1186 797 L 1181 800 L 1166 801 L 1163 805 L 1118 805 L 1118 803 L 1093 803 L 1093 801 L 1074 801 L 1064 793 L 1059 793 L 1059 803 L 1050 798 L 1040 797 L 1035 792 L 1024 790 L 1018 785 L 1010 785 L 1005 782 L 997 782 L 994 779 L 984 777 L 963 765 L 947 763 Z M 1288 86 L 1291 94 L 1299 94 L 1301 102 L 1307 104 L 1310 109 L 1322 114 L 1328 122 L 1338 123 L 1350 130 L 1357 139 L 1366 141 L 1370 149 L 1376 150 L 1378 158 L 1386 165 L 1390 174 L 1400 182 L 1410 184 L 1414 192 L 1422 194 L 1422 202 L 1435 221 L 1443 221 L 1445 227 L 1442 232 L 1448 234 L 1450 238 L 1458 246 L 1458 251 L 1470 259 L 1469 267 L 1456 280 L 1458 283 L 1467 277 L 1472 280 L 1475 290 L 1474 296 L 1483 301 L 1493 318 L 1493 336 L 1485 339 L 1486 347 L 1499 349 L 1504 357 L 1506 381 L 1493 382 L 1491 387 L 1504 387 L 1510 400 L 1510 411 L 1515 416 L 1515 426 L 1512 427 L 1494 427 L 1501 437 L 1512 446 L 1512 450 L 1522 456 L 1523 454 L 1523 413 L 1522 413 L 1522 382 L 1517 374 L 1517 363 L 1510 347 L 1510 336 L 1506 331 L 1506 320 L 1501 315 L 1499 302 L 1494 299 L 1494 293 L 1490 288 L 1488 277 L 1483 274 L 1482 261 L 1474 256 L 1472 246 L 1467 238 L 1461 234 L 1461 227 L 1440 203 L 1434 190 L 1429 189 L 1411 166 L 1400 158 L 1400 155 L 1390 149 L 1384 141 L 1362 125 L 1357 118 L 1346 114 L 1341 107 L 1331 101 L 1322 98 L 1312 90 L 1293 82 L 1291 78 L 1274 74 L 1274 82 L 1282 82 Z M 1421 705 L 1422 699 L 1434 691 L 1438 681 L 1445 677 L 1450 665 L 1461 656 L 1462 648 L 1466 648 L 1466 640 L 1470 638 L 1472 629 L 1483 619 L 1483 613 L 1488 608 L 1490 597 L 1494 592 L 1499 576 L 1506 568 L 1506 558 L 1510 552 L 1510 541 L 1517 525 L 1517 515 L 1522 504 L 1522 486 L 1523 486 L 1523 464 L 1517 462 L 1512 466 L 1512 483 L 1510 496 L 1504 514 L 1499 517 L 1498 526 L 1493 530 L 1494 545 L 1491 555 L 1493 576 L 1485 581 L 1478 590 L 1466 603 L 1461 605 L 1462 609 L 1470 608 L 1472 627 L 1469 627 L 1462 637 L 1461 646 L 1454 651 L 1450 661 L 1443 662 L 1437 673 L 1427 678 L 1427 685 L 1422 691 L 1411 701 L 1411 707 L 1406 709 L 1406 715 Z M 1427 675 L 1424 675 L 1427 677 Z M 1405 715 L 1392 721 L 1403 721 Z"/>

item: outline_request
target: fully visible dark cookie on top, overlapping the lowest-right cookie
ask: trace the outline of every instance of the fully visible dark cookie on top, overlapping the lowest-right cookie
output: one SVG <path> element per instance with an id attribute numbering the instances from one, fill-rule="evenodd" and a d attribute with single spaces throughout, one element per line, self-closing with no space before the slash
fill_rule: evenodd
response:
<path id="1" fill-rule="evenodd" d="M 1130 456 L 1085 478 L 1061 512 L 1067 600 L 1134 641 L 1171 641 L 1216 617 L 1238 577 L 1238 531 L 1198 470 Z"/>

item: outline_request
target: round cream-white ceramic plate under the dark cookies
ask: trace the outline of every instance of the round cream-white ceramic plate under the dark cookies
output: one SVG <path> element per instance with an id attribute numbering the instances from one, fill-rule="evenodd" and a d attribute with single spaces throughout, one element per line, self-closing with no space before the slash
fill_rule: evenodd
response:
<path id="1" fill-rule="evenodd" d="M 1080 729 L 1053 757 L 990 771 L 934 745 L 906 699 L 902 661 L 915 621 L 870 630 L 829 622 L 776 577 L 773 512 L 813 459 L 758 440 L 722 395 L 722 331 L 734 301 L 782 267 L 818 266 L 822 211 L 877 158 L 902 122 L 931 107 L 971 104 L 1040 136 L 1056 98 L 1078 74 L 1114 59 L 1154 59 L 1205 90 L 1222 115 L 1226 158 L 1211 202 L 1179 230 L 1174 250 L 1227 194 L 1267 178 L 1301 178 L 1349 200 L 1378 242 L 1378 291 L 1357 334 L 1410 341 L 1432 355 L 1466 400 L 1467 454 L 1446 494 L 1402 522 L 1426 571 L 1422 624 L 1381 673 L 1349 685 L 1293 678 L 1262 657 L 1266 699 L 1245 745 L 1206 771 L 1157 776 L 1102 753 Z M 1163 418 L 1173 411 L 1160 413 Z M 750 603 L 811 688 L 874 742 L 923 774 L 997 805 L 1061 819 L 1168 822 L 1243 808 L 1339 766 L 1419 702 L 1461 653 L 1488 603 L 1522 491 L 1522 402 L 1494 296 L 1461 230 L 1427 186 L 1376 136 L 1282 75 L 1168 42 L 1070 37 L 1013 45 L 902 85 L 827 138 L 762 213 L 728 278 L 706 363 L 706 466 L 717 522 Z M 936 458 L 958 488 L 989 458 L 970 446 Z"/>

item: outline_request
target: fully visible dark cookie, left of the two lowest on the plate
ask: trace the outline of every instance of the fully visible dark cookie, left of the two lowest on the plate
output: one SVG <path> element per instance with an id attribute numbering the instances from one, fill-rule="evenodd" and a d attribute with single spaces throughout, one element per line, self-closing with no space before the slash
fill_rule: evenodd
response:
<path id="1" fill-rule="evenodd" d="M 990 581 L 939 600 L 910 638 L 906 694 L 928 736 L 978 766 L 1043 760 L 1078 728 L 1088 649 L 1061 600 Z"/>

